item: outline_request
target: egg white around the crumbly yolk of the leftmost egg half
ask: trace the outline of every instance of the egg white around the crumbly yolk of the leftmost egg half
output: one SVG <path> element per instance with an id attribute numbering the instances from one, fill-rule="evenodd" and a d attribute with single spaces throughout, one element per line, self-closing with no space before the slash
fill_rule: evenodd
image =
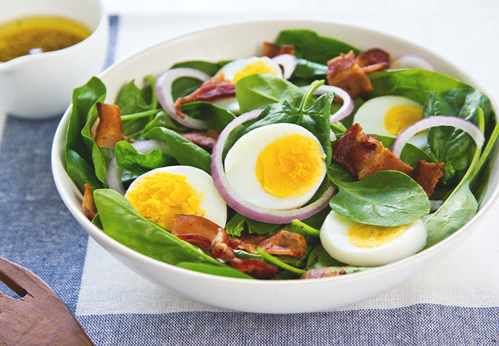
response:
<path id="1" fill-rule="evenodd" d="M 150 176 L 158 172 L 185 176 L 187 183 L 189 183 L 189 185 L 191 185 L 191 187 L 198 194 L 200 194 L 199 208 L 200 210 L 204 210 L 203 217 L 213 221 L 220 227 L 225 227 L 225 223 L 227 222 L 227 205 L 222 197 L 220 197 L 220 194 L 218 194 L 218 190 L 216 190 L 211 176 L 207 172 L 204 172 L 196 167 L 179 165 L 159 167 L 155 170 L 150 170 L 149 172 L 137 177 L 137 179 L 130 184 L 130 187 L 125 193 L 125 198 L 128 196 L 128 193 L 134 189 L 134 186 L 143 179 L 143 177 Z"/>

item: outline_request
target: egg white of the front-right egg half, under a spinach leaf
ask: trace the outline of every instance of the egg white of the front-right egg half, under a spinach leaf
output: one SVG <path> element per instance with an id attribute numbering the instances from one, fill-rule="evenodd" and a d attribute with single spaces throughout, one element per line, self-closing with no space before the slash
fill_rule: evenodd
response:
<path id="1" fill-rule="evenodd" d="M 427 231 L 421 219 L 408 224 L 401 236 L 374 248 L 351 244 L 348 232 L 355 224 L 331 211 L 320 230 L 320 240 L 326 252 L 352 266 L 381 266 L 417 253 L 426 244 Z"/>

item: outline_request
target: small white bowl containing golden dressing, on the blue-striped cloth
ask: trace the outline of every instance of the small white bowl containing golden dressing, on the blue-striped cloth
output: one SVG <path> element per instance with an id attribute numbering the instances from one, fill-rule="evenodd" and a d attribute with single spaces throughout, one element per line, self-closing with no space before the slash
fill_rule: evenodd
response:
<path id="1" fill-rule="evenodd" d="M 91 35 L 58 51 L 0 62 L 0 111 L 30 119 L 60 115 L 71 92 L 104 68 L 109 24 L 100 0 L 3 1 L 0 23 L 51 15 L 85 24 Z"/>

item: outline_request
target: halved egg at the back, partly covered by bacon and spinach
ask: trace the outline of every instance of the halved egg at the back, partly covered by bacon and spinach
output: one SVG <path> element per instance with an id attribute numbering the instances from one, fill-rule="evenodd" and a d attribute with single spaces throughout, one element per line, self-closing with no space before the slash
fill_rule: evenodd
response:
<path id="1" fill-rule="evenodd" d="M 216 73 L 215 78 L 223 78 L 236 84 L 241 78 L 255 73 L 266 73 L 278 78 L 283 77 L 281 67 L 277 62 L 270 59 L 270 57 L 248 57 L 234 60 L 222 66 L 222 69 Z M 213 103 L 233 113 L 239 112 L 239 104 L 236 97 L 222 98 Z"/>

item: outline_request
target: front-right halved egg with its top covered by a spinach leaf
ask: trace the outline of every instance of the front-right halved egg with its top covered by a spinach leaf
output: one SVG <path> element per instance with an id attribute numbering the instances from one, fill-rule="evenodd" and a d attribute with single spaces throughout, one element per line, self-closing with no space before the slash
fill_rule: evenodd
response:
<path id="1" fill-rule="evenodd" d="M 403 226 L 358 224 L 331 211 L 320 230 L 324 249 L 352 266 L 381 266 L 420 251 L 427 231 L 421 219 Z"/>

